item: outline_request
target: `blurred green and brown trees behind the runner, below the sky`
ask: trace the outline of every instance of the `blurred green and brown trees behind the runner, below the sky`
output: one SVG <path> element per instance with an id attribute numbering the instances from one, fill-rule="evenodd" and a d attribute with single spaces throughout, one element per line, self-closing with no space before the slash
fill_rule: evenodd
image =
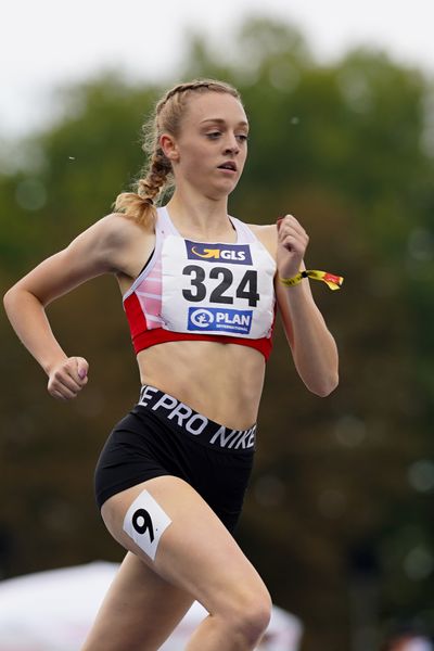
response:
<path id="1" fill-rule="evenodd" d="M 345 276 L 341 293 L 312 288 L 341 350 L 333 396 L 301 386 L 277 332 L 239 537 L 275 601 L 305 623 L 306 651 L 374 648 L 375 629 L 395 617 L 434 621 L 432 86 L 383 52 L 321 66 L 299 31 L 260 17 L 225 54 L 190 39 L 179 76 L 233 82 L 251 120 L 231 212 L 247 222 L 294 213 L 311 238 L 308 266 Z M 159 91 L 115 74 L 67 89 L 62 118 L 27 143 L 33 167 L 0 182 L 4 285 L 110 212 L 143 163 L 140 125 Z M 3 573 L 120 558 L 90 485 L 137 394 L 119 301 L 98 279 L 50 308 L 65 348 L 91 361 L 71 406 L 46 396 L 0 323 L 0 524 L 14 541 Z"/>

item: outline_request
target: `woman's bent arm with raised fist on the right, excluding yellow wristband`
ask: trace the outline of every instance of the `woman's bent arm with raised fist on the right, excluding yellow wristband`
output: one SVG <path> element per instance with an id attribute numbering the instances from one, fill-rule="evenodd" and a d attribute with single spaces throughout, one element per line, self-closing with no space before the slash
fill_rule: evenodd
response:
<path id="1" fill-rule="evenodd" d="M 333 336 L 315 304 L 309 280 L 286 288 L 280 278 L 292 278 L 304 269 L 309 238 L 299 222 L 286 215 L 277 232 L 276 294 L 295 368 L 312 393 L 324 397 L 337 386 L 339 357 Z"/>

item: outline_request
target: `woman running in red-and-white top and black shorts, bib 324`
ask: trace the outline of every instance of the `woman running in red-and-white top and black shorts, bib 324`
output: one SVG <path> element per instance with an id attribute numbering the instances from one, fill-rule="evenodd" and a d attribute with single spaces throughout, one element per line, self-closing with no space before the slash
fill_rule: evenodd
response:
<path id="1" fill-rule="evenodd" d="M 308 276 L 318 272 L 305 270 L 308 235 L 297 219 L 247 226 L 228 215 L 247 137 L 231 86 L 173 88 L 148 123 L 149 166 L 137 192 L 120 194 L 113 214 L 4 298 L 59 400 L 76 398 L 89 376 L 87 360 L 64 352 L 50 329 L 44 308 L 59 296 L 113 275 L 137 353 L 138 404 L 95 471 L 102 518 L 127 553 L 82 651 L 158 649 L 194 600 L 209 616 L 188 651 L 254 649 L 269 622 L 270 596 L 232 532 L 276 308 L 296 370 L 319 396 L 336 387 L 337 352 L 310 293 Z"/>

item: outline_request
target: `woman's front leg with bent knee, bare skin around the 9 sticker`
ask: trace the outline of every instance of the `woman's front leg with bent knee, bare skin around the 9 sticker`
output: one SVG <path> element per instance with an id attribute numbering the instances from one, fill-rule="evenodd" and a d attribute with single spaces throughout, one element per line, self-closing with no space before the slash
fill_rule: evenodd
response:
<path id="1" fill-rule="evenodd" d="M 128 508 L 143 489 L 171 520 L 154 561 L 123 529 Z M 255 648 L 269 622 L 270 597 L 235 540 L 191 486 L 173 476 L 156 477 L 110 498 L 102 514 L 108 531 L 124 547 L 209 612 L 191 639 L 189 651 Z"/>

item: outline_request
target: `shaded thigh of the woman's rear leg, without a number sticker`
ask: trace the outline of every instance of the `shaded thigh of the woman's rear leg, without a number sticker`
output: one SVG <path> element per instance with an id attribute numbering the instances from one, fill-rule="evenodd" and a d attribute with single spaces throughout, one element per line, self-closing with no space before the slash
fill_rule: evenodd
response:
<path id="1" fill-rule="evenodd" d="M 159 649 L 193 602 L 128 552 L 81 651 Z"/>

